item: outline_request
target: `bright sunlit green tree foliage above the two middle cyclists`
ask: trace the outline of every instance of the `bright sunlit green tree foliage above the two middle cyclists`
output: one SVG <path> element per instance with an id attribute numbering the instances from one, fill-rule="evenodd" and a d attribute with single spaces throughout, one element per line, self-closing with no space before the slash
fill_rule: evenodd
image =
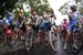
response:
<path id="1" fill-rule="evenodd" d="M 30 8 L 35 8 L 39 15 L 43 14 L 43 11 L 49 8 L 48 0 L 29 0 Z"/>

